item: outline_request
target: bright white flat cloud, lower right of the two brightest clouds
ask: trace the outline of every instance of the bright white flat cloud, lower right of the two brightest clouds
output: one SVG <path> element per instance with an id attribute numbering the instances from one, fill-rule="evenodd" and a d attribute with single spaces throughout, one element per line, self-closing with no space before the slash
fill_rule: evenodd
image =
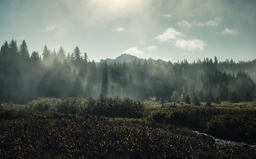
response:
<path id="1" fill-rule="evenodd" d="M 188 51 L 202 51 L 204 50 L 204 46 L 206 46 L 206 42 L 200 39 L 177 39 L 175 46 Z"/>

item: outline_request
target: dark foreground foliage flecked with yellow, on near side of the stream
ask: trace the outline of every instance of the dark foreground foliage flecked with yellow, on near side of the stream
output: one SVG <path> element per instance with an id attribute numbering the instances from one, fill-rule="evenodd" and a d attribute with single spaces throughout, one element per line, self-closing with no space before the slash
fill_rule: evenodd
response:
<path id="1" fill-rule="evenodd" d="M 0 158 L 255 158 L 243 147 L 144 119 L 0 111 Z M 13 116 L 14 117 L 14 116 Z"/>

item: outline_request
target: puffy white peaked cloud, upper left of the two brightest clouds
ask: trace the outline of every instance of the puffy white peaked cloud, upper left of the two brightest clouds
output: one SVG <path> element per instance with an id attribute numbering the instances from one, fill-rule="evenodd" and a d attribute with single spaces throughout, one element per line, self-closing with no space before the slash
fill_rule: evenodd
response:
<path id="1" fill-rule="evenodd" d="M 175 40 L 178 37 L 183 37 L 184 35 L 178 31 L 176 31 L 174 28 L 167 28 L 163 34 L 158 35 L 155 37 L 159 42 L 165 42 L 165 41 L 171 41 Z"/>

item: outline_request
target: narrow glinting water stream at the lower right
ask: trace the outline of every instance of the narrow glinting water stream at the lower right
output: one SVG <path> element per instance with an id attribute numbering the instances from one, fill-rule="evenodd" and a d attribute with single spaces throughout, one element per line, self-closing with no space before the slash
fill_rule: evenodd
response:
<path id="1" fill-rule="evenodd" d="M 207 133 L 202 133 L 200 131 L 193 131 L 193 132 L 198 135 L 206 135 L 208 137 L 213 138 L 215 140 L 216 144 L 218 144 L 218 145 L 226 144 L 227 146 L 249 146 L 252 150 L 256 151 L 255 144 L 248 144 L 246 142 L 235 142 L 235 141 L 229 141 L 229 140 L 225 140 L 225 139 L 219 139 L 219 138 L 213 137 Z"/>

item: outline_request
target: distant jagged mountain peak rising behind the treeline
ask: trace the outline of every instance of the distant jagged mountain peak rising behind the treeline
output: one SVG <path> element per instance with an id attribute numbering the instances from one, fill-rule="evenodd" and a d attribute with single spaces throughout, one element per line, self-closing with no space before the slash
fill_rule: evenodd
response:
<path id="1" fill-rule="evenodd" d="M 119 57 L 117 57 L 116 59 L 109 59 L 109 58 L 107 58 L 107 59 L 105 59 L 105 60 L 101 59 L 100 61 L 106 61 L 107 64 L 114 63 L 114 62 L 116 62 L 116 63 L 124 63 L 124 59 L 125 59 L 125 61 L 126 61 L 127 63 L 132 62 L 132 61 L 135 61 L 135 59 L 136 59 L 137 61 L 141 61 L 141 63 L 144 63 L 144 60 L 145 60 L 145 59 L 139 59 L 138 57 L 136 57 L 136 56 L 134 56 L 134 55 L 130 55 L 130 54 L 121 54 L 121 55 L 120 55 Z M 158 60 L 163 61 L 163 60 L 161 60 L 161 59 L 158 59 Z M 151 61 L 152 63 L 154 63 L 154 62 L 157 61 L 157 60 L 154 60 L 154 59 L 149 58 L 149 59 L 147 59 L 146 61 Z"/>

